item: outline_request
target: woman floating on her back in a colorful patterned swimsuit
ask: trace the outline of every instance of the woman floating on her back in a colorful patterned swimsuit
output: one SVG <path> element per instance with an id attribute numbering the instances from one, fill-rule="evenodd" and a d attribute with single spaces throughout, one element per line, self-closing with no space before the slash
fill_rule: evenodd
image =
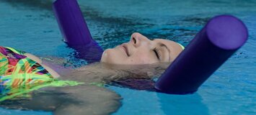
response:
<path id="1" fill-rule="evenodd" d="M 172 63 L 183 49 L 182 45 L 171 40 L 149 40 L 144 35 L 133 33 L 129 42 L 105 50 L 100 63 L 71 70 L 11 47 L 0 47 L 1 106 L 54 111 L 55 114 L 67 114 L 69 109 L 83 108 L 83 111 L 76 111 L 76 114 L 84 114 L 95 111 L 93 103 L 105 103 L 110 109 L 104 110 L 105 107 L 97 105 L 97 109 L 101 109 L 98 112 L 111 113 L 120 106 L 120 96 L 97 86 L 102 85 L 104 80 L 128 76 L 147 78 L 154 69 L 143 70 L 146 69 L 143 67 L 139 72 L 131 72 L 136 75 L 131 75 L 107 69 L 101 63 L 108 68 L 118 66 L 119 69 L 125 68 L 125 65 L 134 68 L 149 64 L 157 68 L 162 63 Z M 144 72 L 146 75 L 141 74 Z"/>

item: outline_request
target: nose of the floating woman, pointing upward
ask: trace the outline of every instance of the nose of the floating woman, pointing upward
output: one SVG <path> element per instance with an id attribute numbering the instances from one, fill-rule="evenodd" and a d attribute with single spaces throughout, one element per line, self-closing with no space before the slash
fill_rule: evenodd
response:
<path id="1" fill-rule="evenodd" d="M 147 37 L 145 37 L 144 35 L 141 35 L 138 32 L 134 32 L 131 35 L 130 43 L 134 47 L 139 47 L 139 46 L 143 45 L 144 43 L 149 43 L 149 42 L 150 42 L 150 40 Z"/>

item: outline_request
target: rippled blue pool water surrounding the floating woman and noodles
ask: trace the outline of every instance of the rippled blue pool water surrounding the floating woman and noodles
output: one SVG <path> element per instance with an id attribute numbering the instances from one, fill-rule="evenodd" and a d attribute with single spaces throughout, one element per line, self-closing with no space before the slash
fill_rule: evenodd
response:
<path id="1" fill-rule="evenodd" d="M 69 57 L 51 0 L 0 0 L 0 45 L 39 56 Z M 109 86 L 123 97 L 114 114 L 256 114 L 256 1 L 248 0 L 79 0 L 94 40 L 106 49 L 128 42 L 133 32 L 187 45 L 208 19 L 232 14 L 242 19 L 249 39 L 196 93 L 180 96 Z M 42 114 L 45 111 L 0 109 L 1 114 Z"/>

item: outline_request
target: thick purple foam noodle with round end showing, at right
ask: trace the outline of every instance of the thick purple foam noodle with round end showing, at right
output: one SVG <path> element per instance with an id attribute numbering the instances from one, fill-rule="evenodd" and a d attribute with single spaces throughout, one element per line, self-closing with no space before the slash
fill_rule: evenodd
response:
<path id="1" fill-rule="evenodd" d="M 156 81 L 164 93 L 193 93 L 248 37 L 247 27 L 230 15 L 213 17 Z"/>

